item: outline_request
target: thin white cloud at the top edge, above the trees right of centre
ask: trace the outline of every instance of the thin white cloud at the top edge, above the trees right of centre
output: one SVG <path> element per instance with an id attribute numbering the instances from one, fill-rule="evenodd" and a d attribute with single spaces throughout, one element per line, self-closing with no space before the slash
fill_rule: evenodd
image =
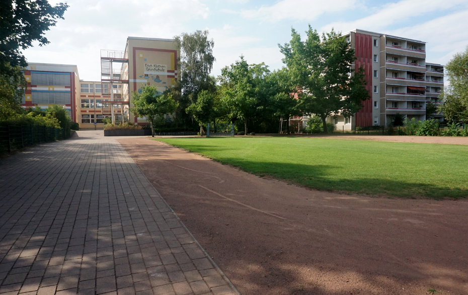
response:
<path id="1" fill-rule="evenodd" d="M 241 15 L 271 22 L 285 19 L 311 21 L 322 14 L 350 10 L 357 5 L 358 0 L 281 0 L 272 6 L 243 11 Z"/>

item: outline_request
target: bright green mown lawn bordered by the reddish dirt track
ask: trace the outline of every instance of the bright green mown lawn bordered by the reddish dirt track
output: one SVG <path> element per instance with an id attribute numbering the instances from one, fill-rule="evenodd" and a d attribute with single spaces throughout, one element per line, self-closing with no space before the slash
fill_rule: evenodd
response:
<path id="1" fill-rule="evenodd" d="M 294 137 L 158 140 L 260 176 L 321 190 L 407 198 L 468 196 L 468 146 Z"/>

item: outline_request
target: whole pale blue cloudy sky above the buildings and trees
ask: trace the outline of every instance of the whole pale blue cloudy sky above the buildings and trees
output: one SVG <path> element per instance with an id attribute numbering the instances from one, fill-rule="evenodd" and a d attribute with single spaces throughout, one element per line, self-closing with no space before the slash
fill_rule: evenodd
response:
<path id="1" fill-rule="evenodd" d="M 55 2 L 50 2 L 55 4 Z M 50 44 L 24 50 L 28 62 L 73 64 L 80 79 L 99 81 L 100 49 L 124 50 L 128 36 L 172 39 L 208 30 L 218 76 L 240 55 L 249 64 L 283 66 L 278 44 L 291 40 L 291 28 L 305 36 L 354 29 L 427 42 L 426 61 L 447 63 L 468 45 L 466 0 L 70 0 Z"/>

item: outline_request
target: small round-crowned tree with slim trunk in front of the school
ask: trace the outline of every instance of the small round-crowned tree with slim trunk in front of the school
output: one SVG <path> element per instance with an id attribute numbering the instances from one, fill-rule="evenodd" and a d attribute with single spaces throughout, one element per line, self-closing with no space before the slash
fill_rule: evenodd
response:
<path id="1" fill-rule="evenodd" d="M 152 85 L 144 85 L 141 93 L 133 92 L 132 104 L 133 108 L 130 109 L 130 112 L 137 117 L 146 117 L 146 120 L 151 124 L 151 136 L 153 137 L 154 123 L 157 118 L 174 113 L 179 106 L 169 91 L 160 94 L 158 87 Z"/>

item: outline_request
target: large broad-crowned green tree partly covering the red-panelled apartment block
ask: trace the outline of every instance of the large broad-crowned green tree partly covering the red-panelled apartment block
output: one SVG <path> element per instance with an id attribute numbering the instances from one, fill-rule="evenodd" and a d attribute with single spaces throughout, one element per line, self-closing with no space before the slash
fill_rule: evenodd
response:
<path id="1" fill-rule="evenodd" d="M 292 29 L 291 41 L 279 47 L 285 56 L 283 62 L 303 91 L 302 112 L 319 116 L 326 133 L 328 116 L 340 114 L 348 118 L 362 108 L 362 102 L 370 95 L 364 86 L 362 69 L 349 75 L 356 56 L 340 33 L 332 30 L 320 38 L 310 25 L 306 33 L 307 39 L 301 41 Z"/>

